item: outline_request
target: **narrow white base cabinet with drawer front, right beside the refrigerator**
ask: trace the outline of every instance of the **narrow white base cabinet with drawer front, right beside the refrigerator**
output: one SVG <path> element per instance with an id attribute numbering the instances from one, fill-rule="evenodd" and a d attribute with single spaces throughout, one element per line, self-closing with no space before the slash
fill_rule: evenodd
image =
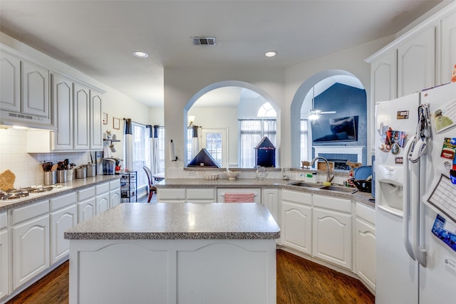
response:
<path id="1" fill-rule="evenodd" d="M 375 209 L 356 204 L 356 274 L 375 290 Z"/>

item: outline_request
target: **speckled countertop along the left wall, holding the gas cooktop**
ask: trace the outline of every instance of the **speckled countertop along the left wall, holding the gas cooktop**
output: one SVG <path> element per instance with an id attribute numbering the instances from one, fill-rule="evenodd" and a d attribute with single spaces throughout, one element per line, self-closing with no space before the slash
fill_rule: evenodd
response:
<path id="1" fill-rule="evenodd" d="M 56 187 L 56 189 L 53 189 L 49 192 L 41 192 L 40 194 L 29 194 L 29 196 L 25 196 L 21 199 L 11 199 L 5 201 L 0 200 L 0 211 L 16 208 L 19 206 L 25 206 L 28 204 L 33 204 L 36 201 L 42 201 L 43 199 L 51 199 L 54 196 L 68 194 L 71 192 L 75 192 L 76 190 L 93 187 L 97 184 L 110 182 L 115 179 L 120 179 L 120 175 L 97 175 L 96 177 L 87 177 L 86 179 L 73 179 L 70 182 L 54 184 L 52 186 Z"/>

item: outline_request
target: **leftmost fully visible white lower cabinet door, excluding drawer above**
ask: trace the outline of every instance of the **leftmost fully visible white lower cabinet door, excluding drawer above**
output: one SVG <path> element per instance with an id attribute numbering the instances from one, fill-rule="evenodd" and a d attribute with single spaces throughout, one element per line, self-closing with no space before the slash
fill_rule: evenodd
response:
<path id="1" fill-rule="evenodd" d="M 24 221 L 13 232 L 13 289 L 46 270 L 49 264 L 49 215 Z"/>

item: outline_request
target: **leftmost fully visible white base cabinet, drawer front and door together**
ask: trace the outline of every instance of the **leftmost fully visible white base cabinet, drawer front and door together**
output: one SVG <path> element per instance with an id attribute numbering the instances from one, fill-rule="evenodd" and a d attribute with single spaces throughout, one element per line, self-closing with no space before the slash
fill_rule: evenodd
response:
<path id="1" fill-rule="evenodd" d="M 46 270 L 49 263 L 49 201 L 11 210 L 13 290 Z"/>

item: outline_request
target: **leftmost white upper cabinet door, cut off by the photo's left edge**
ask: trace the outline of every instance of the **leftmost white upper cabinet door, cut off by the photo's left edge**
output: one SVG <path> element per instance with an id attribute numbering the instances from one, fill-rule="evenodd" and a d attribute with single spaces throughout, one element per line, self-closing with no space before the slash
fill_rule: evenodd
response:
<path id="1" fill-rule="evenodd" d="M 19 112 L 21 95 L 21 61 L 19 58 L 0 52 L 0 108 Z"/>

